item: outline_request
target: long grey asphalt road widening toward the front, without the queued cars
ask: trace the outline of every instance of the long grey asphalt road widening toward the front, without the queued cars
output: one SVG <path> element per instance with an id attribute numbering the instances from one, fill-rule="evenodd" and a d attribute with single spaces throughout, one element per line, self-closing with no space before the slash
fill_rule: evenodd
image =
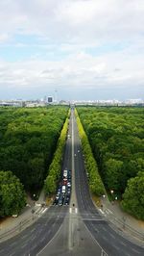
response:
<path id="1" fill-rule="evenodd" d="M 113 231 L 93 205 L 73 111 L 68 133 L 62 169 L 72 170 L 70 205 L 51 206 L 32 226 L 0 243 L 0 255 L 144 255 L 142 247 Z"/>

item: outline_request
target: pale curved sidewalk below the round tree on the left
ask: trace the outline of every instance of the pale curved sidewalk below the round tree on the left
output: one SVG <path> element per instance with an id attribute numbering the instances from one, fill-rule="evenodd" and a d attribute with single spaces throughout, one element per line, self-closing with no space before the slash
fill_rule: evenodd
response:
<path id="1" fill-rule="evenodd" d="M 36 202 L 30 197 L 27 198 L 27 205 L 17 218 L 10 217 L 3 219 L 0 222 L 0 243 L 33 224 L 45 212 L 46 208 L 42 207 L 44 202 L 45 195 L 42 190 Z"/>

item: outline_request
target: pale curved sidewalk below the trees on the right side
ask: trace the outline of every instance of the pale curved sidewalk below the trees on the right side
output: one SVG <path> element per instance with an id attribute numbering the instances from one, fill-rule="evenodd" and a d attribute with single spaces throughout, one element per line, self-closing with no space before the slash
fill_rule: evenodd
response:
<path id="1" fill-rule="evenodd" d="M 131 215 L 123 212 L 116 200 L 110 203 L 108 196 L 101 198 L 101 205 L 100 213 L 108 218 L 113 228 L 116 226 L 118 232 L 125 234 L 132 242 L 144 246 L 144 221 L 132 218 Z"/>

